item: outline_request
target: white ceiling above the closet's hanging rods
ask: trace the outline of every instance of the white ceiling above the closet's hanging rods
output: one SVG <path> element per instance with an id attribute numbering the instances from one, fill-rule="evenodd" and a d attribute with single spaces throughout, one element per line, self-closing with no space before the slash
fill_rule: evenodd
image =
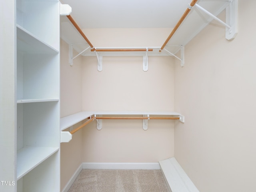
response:
<path id="1" fill-rule="evenodd" d="M 80 28 L 172 28 L 191 0 L 61 0 Z"/>

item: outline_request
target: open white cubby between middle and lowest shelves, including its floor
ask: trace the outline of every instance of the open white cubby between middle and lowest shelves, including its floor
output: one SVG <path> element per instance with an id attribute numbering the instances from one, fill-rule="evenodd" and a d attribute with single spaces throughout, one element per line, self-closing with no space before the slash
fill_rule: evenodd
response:
<path id="1" fill-rule="evenodd" d="M 59 150 L 58 102 L 17 105 L 17 179 Z"/>

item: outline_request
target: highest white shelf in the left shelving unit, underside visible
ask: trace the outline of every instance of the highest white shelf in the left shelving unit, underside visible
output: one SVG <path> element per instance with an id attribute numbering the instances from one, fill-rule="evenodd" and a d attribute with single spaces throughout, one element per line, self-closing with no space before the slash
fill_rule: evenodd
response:
<path id="1" fill-rule="evenodd" d="M 17 24 L 17 48 L 24 53 L 58 53 L 58 50 L 40 40 Z"/>

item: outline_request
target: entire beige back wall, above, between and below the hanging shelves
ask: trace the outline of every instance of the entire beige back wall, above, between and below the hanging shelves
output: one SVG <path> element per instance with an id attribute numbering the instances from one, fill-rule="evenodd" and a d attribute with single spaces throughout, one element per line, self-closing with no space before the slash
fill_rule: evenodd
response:
<path id="1" fill-rule="evenodd" d="M 87 29 L 94 46 L 159 46 L 170 29 Z M 158 35 L 160 34 L 160 35 Z M 103 57 L 98 72 L 96 57 L 84 57 L 82 66 L 83 110 L 172 111 L 174 65 L 172 57 L 149 57 L 148 71 L 142 56 Z M 83 162 L 158 162 L 173 156 L 172 120 L 103 120 L 83 129 Z"/>

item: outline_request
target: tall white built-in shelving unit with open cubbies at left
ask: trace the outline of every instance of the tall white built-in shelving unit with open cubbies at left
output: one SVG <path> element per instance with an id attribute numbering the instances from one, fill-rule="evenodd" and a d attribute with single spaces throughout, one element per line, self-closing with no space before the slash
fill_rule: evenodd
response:
<path id="1" fill-rule="evenodd" d="M 17 0 L 17 191 L 60 191 L 60 2 Z"/>

